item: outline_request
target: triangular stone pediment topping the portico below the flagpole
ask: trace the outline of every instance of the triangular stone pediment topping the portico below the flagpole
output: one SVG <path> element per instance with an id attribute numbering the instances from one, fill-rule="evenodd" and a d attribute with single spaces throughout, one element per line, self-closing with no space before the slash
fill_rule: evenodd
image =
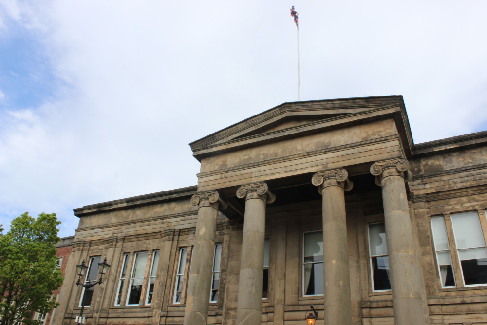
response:
<path id="1" fill-rule="evenodd" d="M 272 141 L 282 136 L 312 132 L 324 121 L 345 121 L 357 115 L 387 107 L 403 106 L 402 96 L 360 97 L 331 100 L 288 102 L 249 117 L 223 130 L 190 143 L 193 156 L 219 150 L 235 150 L 243 143 Z"/>

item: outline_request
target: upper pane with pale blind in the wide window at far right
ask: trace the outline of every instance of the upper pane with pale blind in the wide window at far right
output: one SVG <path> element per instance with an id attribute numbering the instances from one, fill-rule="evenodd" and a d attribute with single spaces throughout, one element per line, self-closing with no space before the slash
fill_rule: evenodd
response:
<path id="1" fill-rule="evenodd" d="M 479 216 L 476 211 L 451 215 L 457 249 L 485 246 Z"/>

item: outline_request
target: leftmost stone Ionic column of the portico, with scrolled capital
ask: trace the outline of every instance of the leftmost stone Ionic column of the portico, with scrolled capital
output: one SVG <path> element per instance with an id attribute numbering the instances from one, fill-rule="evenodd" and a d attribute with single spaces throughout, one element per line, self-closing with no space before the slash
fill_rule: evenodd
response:
<path id="1" fill-rule="evenodd" d="M 209 191 L 194 194 L 191 204 L 198 206 L 198 221 L 189 270 L 184 324 L 206 325 L 215 251 L 216 216 L 219 206 L 225 203 L 217 191 Z"/>

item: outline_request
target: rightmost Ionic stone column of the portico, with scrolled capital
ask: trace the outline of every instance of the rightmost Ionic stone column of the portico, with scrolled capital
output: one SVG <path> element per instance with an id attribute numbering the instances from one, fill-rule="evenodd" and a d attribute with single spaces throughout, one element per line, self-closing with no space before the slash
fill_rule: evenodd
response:
<path id="1" fill-rule="evenodd" d="M 428 324 L 428 307 L 421 298 L 425 295 L 424 279 L 414 252 L 404 184 L 412 177 L 409 162 L 404 158 L 375 162 L 370 172 L 382 187 L 394 324 Z"/>

